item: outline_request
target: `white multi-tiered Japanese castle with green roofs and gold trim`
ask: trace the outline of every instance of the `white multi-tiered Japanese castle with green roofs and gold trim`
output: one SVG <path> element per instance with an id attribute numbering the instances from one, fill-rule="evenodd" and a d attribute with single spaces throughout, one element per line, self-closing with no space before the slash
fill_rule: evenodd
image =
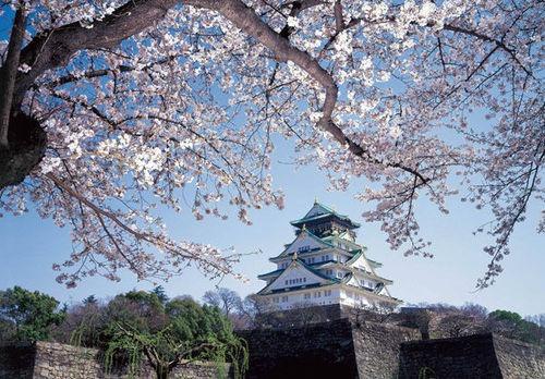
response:
<path id="1" fill-rule="evenodd" d="M 339 304 L 344 306 L 397 306 L 390 296 L 391 280 L 379 277 L 382 264 L 365 256 L 355 242 L 360 224 L 314 201 L 295 227 L 295 240 L 269 260 L 277 269 L 258 276 L 267 282 L 257 293 L 270 310 Z"/>

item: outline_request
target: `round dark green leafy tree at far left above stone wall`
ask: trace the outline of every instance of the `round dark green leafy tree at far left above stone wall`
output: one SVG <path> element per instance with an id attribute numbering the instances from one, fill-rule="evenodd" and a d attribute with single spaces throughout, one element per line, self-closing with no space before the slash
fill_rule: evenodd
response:
<path id="1" fill-rule="evenodd" d="M 16 285 L 0 291 L 0 320 L 13 331 L 11 339 L 47 340 L 51 327 L 62 322 L 64 317 L 65 310 L 59 309 L 59 302 L 52 296 Z"/>

